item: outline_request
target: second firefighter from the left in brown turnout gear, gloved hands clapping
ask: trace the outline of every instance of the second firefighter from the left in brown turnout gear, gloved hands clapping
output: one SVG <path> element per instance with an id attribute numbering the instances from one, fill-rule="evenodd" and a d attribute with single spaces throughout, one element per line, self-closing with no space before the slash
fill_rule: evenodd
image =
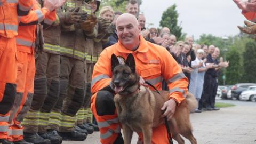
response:
<path id="1" fill-rule="evenodd" d="M 63 140 L 84 140 L 87 132 L 75 131 L 75 122 L 84 100 L 85 36 L 97 36 L 97 18 L 82 0 L 68 0 L 62 12 L 65 16 L 61 19 L 60 35 L 60 98 L 53 108 L 58 111 L 55 118 L 60 117 L 60 122 L 51 125 L 50 129 L 57 129 Z M 50 121 L 52 118 L 53 115 Z"/>

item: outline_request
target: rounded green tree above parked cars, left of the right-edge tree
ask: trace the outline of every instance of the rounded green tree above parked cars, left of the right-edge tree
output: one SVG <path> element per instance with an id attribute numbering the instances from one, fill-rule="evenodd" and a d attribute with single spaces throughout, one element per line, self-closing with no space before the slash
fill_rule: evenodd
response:
<path id="1" fill-rule="evenodd" d="M 241 55 L 237 50 L 231 50 L 227 53 L 229 67 L 226 69 L 226 84 L 232 85 L 241 82 Z M 225 70 L 223 70 L 224 72 Z"/>

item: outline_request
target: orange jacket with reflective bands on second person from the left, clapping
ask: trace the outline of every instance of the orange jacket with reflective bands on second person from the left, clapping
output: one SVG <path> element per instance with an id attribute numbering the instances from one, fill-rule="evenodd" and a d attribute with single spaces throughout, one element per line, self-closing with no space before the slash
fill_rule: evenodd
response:
<path id="1" fill-rule="evenodd" d="M 55 17 L 55 11 L 50 12 L 35 1 L 35 5 L 28 15 L 19 19 L 18 33 L 16 38 L 17 50 L 31 53 L 36 46 L 37 25 L 44 20 Z M 52 19 L 54 20 L 54 19 Z M 28 22 L 28 23 L 26 23 Z"/>

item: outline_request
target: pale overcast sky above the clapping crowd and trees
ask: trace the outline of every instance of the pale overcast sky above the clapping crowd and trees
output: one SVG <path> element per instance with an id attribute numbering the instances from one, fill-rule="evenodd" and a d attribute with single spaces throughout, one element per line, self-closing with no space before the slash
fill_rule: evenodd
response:
<path id="1" fill-rule="evenodd" d="M 237 26 L 244 25 L 245 18 L 232 0 L 142 0 L 140 11 L 146 23 L 153 24 L 150 27 L 159 27 L 162 13 L 173 4 L 177 5 L 182 33 L 195 39 L 202 34 L 234 36 L 239 34 Z"/>

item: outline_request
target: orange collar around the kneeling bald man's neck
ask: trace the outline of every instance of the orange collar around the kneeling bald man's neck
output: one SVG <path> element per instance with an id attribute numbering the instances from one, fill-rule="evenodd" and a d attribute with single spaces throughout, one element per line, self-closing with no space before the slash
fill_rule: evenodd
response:
<path id="1" fill-rule="evenodd" d="M 116 45 L 118 47 L 117 51 L 120 53 L 135 53 L 135 52 L 145 53 L 145 52 L 147 52 L 149 50 L 147 41 L 142 36 L 140 36 L 139 38 L 140 38 L 140 45 L 136 51 L 131 51 L 131 50 L 126 49 L 120 40 L 118 41 L 118 43 Z"/>

